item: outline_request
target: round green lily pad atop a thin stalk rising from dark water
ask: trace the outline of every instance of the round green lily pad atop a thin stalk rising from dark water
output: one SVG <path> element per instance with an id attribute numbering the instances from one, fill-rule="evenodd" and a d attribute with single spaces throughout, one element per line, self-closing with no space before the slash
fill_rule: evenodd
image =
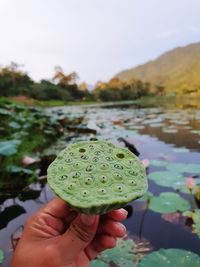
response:
<path id="1" fill-rule="evenodd" d="M 171 213 L 189 210 L 190 204 L 176 193 L 163 192 L 150 199 L 149 208 L 159 213 Z"/>

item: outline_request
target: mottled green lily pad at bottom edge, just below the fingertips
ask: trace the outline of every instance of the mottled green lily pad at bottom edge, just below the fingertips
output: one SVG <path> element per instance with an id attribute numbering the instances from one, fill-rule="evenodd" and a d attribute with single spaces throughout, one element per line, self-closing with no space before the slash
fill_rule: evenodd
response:
<path id="1" fill-rule="evenodd" d="M 90 266 L 109 267 L 111 263 L 114 263 L 114 266 L 136 267 L 134 246 L 135 244 L 131 239 L 118 239 L 115 248 L 102 252 L 96 260 L 92 261 Z"/>

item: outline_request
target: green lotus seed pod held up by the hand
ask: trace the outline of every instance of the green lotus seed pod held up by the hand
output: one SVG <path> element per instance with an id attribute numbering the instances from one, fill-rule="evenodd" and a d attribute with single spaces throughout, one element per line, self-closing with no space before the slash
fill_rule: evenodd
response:
<path id="1" fill-rule="evenodd" d="M 47 170 L 48 184 L 74 210 L 103 214 L 147 191 L 143 164 L 127 148 L 84 141 L 62 150 Z"/>

